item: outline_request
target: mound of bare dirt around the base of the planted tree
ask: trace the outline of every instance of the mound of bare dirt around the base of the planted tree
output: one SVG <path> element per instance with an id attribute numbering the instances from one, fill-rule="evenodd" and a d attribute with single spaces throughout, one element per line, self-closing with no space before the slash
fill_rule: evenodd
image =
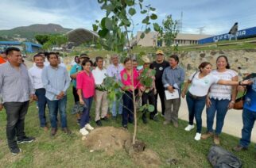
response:
<path id="1" fill-rule="evenodd" d="M 117 150 L 125 150 L 134 162 L 142 167 L 158 167 L 161 164 L 156 152 L 145 149 L 145 143 L 142 141 L 132 144 L 130 132 L 122 128 L 96 128 L 85 139 L 85 146 L 91 152 L 107 151 L 109 155 L 114 155 Z"/>

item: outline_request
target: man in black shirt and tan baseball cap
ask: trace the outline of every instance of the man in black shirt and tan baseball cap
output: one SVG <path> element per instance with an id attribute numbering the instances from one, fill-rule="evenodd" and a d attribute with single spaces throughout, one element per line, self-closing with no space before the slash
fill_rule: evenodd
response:
<path id="1" fill-rule="evenodd" d="M 164 52 L 161 50 L 157 50 L 156 52 L 156 60 L 150 64 L 151 69 L 156 70 L 155 78 L 156 78 L 156 89 L 157 89 L 157 94 L 155 94 L 155 111 L 154 113 L 150 114 L 150 119 L 151 120 L 157 120 L 155 115 L 157 114 L 157 96 L 159 94 L 160 100 L 161 100 L 161 113 L 164 116 L 165 115 L 165 88 L 163 86 L 161 77 L 163 75 L 163 72 L 165 70 L 165 67 L 169 67 L 169 63 L 165 61 L 165 56 Z"/>

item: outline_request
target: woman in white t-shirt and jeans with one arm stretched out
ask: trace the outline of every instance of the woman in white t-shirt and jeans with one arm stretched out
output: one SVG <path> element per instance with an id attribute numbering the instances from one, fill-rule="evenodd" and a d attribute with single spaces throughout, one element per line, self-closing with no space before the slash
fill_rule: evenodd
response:
<path id="1" fill-rule="evenodd" d="M 202 130 L 202 112 L 204 109 L 204 105 L 206 102 L 206 97 L 208 95 L 208 90 L 212 84 L 219 85 L 248 85 L 251 82 L 246 80 L 243 82 L 238 81 L 227 81 L 220 79 L 218 76 L 214 74 L 210 74 L 211 72 L 211 63 L 204 62 L 201 63 L 199 68 L 199 72 L 192 74 L 188 78 L 188 82 L 184 86 L 184 90 L 182 90 L 182 97 L 184 98 L 185 94 L 186 101 L 188 104 L 188 113 L 189 113 L 189 123 L 185 128 L 185 131 L 190 131 L 194 128 L 193 120 L 194 116 L 196 118 L 196 140 L 201 139 L 201 130 Z M 188 89 L 188 85 L 191 83 L 190 88 Z"/>

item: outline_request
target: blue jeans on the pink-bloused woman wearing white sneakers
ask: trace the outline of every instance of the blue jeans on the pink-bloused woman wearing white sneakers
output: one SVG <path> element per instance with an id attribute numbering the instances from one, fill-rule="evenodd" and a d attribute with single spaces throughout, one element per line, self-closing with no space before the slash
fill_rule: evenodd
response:
<path id="1" fill-rule="evenodd" d="M 83 101 L 85 103 L 83 107 L 83 113 L 80 120 L 80 128 L 84 128 L 84 126 L 89 123 L 90 120 L 90 110 L 91 110 L 91 104 L 93 101 L 93 97 L 84 98 Z"/>

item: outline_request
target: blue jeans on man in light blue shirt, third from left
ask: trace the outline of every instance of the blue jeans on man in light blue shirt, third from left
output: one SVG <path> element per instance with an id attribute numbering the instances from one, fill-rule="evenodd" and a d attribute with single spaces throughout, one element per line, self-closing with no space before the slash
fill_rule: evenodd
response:
<path id="1" fill-rule="evenodd" d="M 50 114 L 50 121 L 52 128 L 57 128 L 57 116 L 58 111 L 60 111 L 60 123 L 61 128 L 67 127 L 67 116 L 66 116 L 66 105 L 67 105 L 67 96 L 64 96 L 60 100 L 50 101 L 47 98 L 48 111 Z"/>

